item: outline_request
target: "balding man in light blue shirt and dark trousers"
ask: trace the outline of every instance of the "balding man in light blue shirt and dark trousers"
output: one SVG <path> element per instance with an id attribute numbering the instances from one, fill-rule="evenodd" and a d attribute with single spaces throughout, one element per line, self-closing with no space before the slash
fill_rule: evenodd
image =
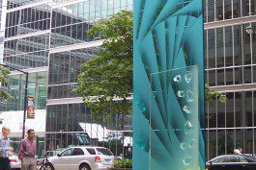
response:
<path id="1" fill-rule="evenodd" d="M 10 170 L 10 159 L 9 156 L 14 152 L 14 148 L 11 147 L 10 138 L 10 128 L 3 126 L 2 135 L 0 135 L 0 170 Z"/>

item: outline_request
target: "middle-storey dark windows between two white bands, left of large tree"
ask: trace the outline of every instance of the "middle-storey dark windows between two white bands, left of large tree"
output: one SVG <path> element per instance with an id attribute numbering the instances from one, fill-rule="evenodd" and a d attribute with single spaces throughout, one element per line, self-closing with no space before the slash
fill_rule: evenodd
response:
<path id="1" fill-rule="evenodd" d="M 95 58 L 100 47 L 79 49 L 50 55 L 48 99 L 76 97 L 72 93 L 77 84 L 80 66 Z M 69 84 L 69 85 L 63 85 Z"/>

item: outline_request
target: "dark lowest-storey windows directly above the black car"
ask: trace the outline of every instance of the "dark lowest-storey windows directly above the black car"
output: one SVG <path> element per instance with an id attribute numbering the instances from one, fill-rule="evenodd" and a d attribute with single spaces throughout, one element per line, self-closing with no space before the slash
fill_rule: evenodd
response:
<path id="1" fill-rule="evenodd" d="M 256 104 L 255 94 L 255 91 L 228 92 L 226 104 L 216 101 L 209 103 L 207 109 L 208 159 L 233 154 L 234 148 L 242 148 L 244 153 L 253 152 L 255 143 L 252 127 L 255 126 L 255 120 L 253 121 L 252 106 Z"/>

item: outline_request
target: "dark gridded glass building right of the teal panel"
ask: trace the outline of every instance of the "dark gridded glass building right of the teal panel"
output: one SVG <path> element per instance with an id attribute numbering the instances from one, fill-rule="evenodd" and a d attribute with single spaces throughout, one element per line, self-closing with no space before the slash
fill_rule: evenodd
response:
<path id="1" fill-rule="evenodd" d="M 205 78 L 224 92 L 226 104 L 214 100 L 206 110 L 207 159 L 256 153 L 255 0 L 205 0 Z"/>

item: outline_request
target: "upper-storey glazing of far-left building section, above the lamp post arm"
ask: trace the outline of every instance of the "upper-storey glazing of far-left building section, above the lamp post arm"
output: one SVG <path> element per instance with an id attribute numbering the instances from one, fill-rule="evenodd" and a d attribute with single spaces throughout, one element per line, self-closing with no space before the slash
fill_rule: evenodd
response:
<path id="1" fill-rule="evenodd" d="M 4 62 L 22 69 L 47 66 L 50 4 L 45 1 L 33 7 L 15 9 L 20 3 L 28 2 L 8 1 L 8 8 L 16 6 L 6 15 Z"/>

